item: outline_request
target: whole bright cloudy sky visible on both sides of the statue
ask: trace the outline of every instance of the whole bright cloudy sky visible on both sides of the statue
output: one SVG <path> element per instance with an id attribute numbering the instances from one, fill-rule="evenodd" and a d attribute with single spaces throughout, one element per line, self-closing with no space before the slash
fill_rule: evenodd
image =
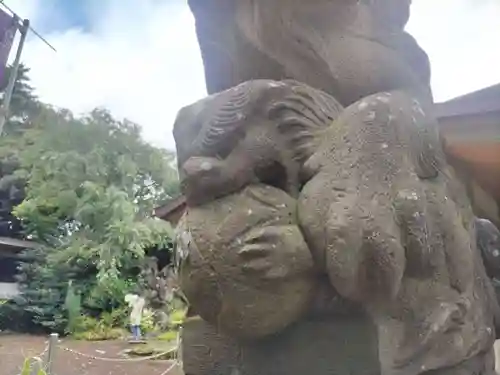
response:
<path id="1" fill-rule="evenodd" d="M 208 1 L 208 0 L 207 0 Z M 83 113 L 105 106 L 174 148 L 177 110 L 205 95 L 185 0 L 5 0 L 53 44 L 23 53 L 42 100 Z M 498 0 L 413 0 L 408 30 L 428 52 L 438 101 L 500 83 Z"/>

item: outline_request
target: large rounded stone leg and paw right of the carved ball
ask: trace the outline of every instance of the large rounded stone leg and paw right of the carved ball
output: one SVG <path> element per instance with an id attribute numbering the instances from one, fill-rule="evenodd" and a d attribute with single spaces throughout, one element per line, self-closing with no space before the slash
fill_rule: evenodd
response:
<path id="1" fill-rule="evenodd" d="M 451 367 L 495 338 L 474 216 L 436 129 L 404 92 L 377 94 L 347 108 L 306 163 L 301 228 L 336 290 L 379 327 L 384 374 Z"/>

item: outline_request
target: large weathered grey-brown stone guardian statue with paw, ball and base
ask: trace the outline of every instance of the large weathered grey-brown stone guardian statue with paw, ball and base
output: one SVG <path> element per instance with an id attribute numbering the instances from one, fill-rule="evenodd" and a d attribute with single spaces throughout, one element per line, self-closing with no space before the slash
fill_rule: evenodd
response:
<path id="1" fill-rule="evenodd" d="M 189 3 L 211 95 L 174 127 L 186 374 L 492 374 L 410 0 Z"/>

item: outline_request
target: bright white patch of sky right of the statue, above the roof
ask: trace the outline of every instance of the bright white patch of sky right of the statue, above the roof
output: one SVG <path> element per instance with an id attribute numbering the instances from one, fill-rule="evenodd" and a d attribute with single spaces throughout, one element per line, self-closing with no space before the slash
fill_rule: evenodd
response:
<path id="1" fill-rule="evenodd" d="M 427 51 L 437 101 L 500 83 L 498 0 L 414 0 L 408 30 Z"/>

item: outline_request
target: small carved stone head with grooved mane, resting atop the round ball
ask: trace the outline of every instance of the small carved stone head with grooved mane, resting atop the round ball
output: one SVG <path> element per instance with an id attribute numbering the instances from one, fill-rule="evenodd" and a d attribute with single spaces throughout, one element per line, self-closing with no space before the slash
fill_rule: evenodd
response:
<path id="1" fill-rule="evenodd" d="M 255 80 L 182 109 L 174 125 L 189 205 L 252 182 L 298 195 L 302 163 L 342 106 L 295 81 Z"/>

